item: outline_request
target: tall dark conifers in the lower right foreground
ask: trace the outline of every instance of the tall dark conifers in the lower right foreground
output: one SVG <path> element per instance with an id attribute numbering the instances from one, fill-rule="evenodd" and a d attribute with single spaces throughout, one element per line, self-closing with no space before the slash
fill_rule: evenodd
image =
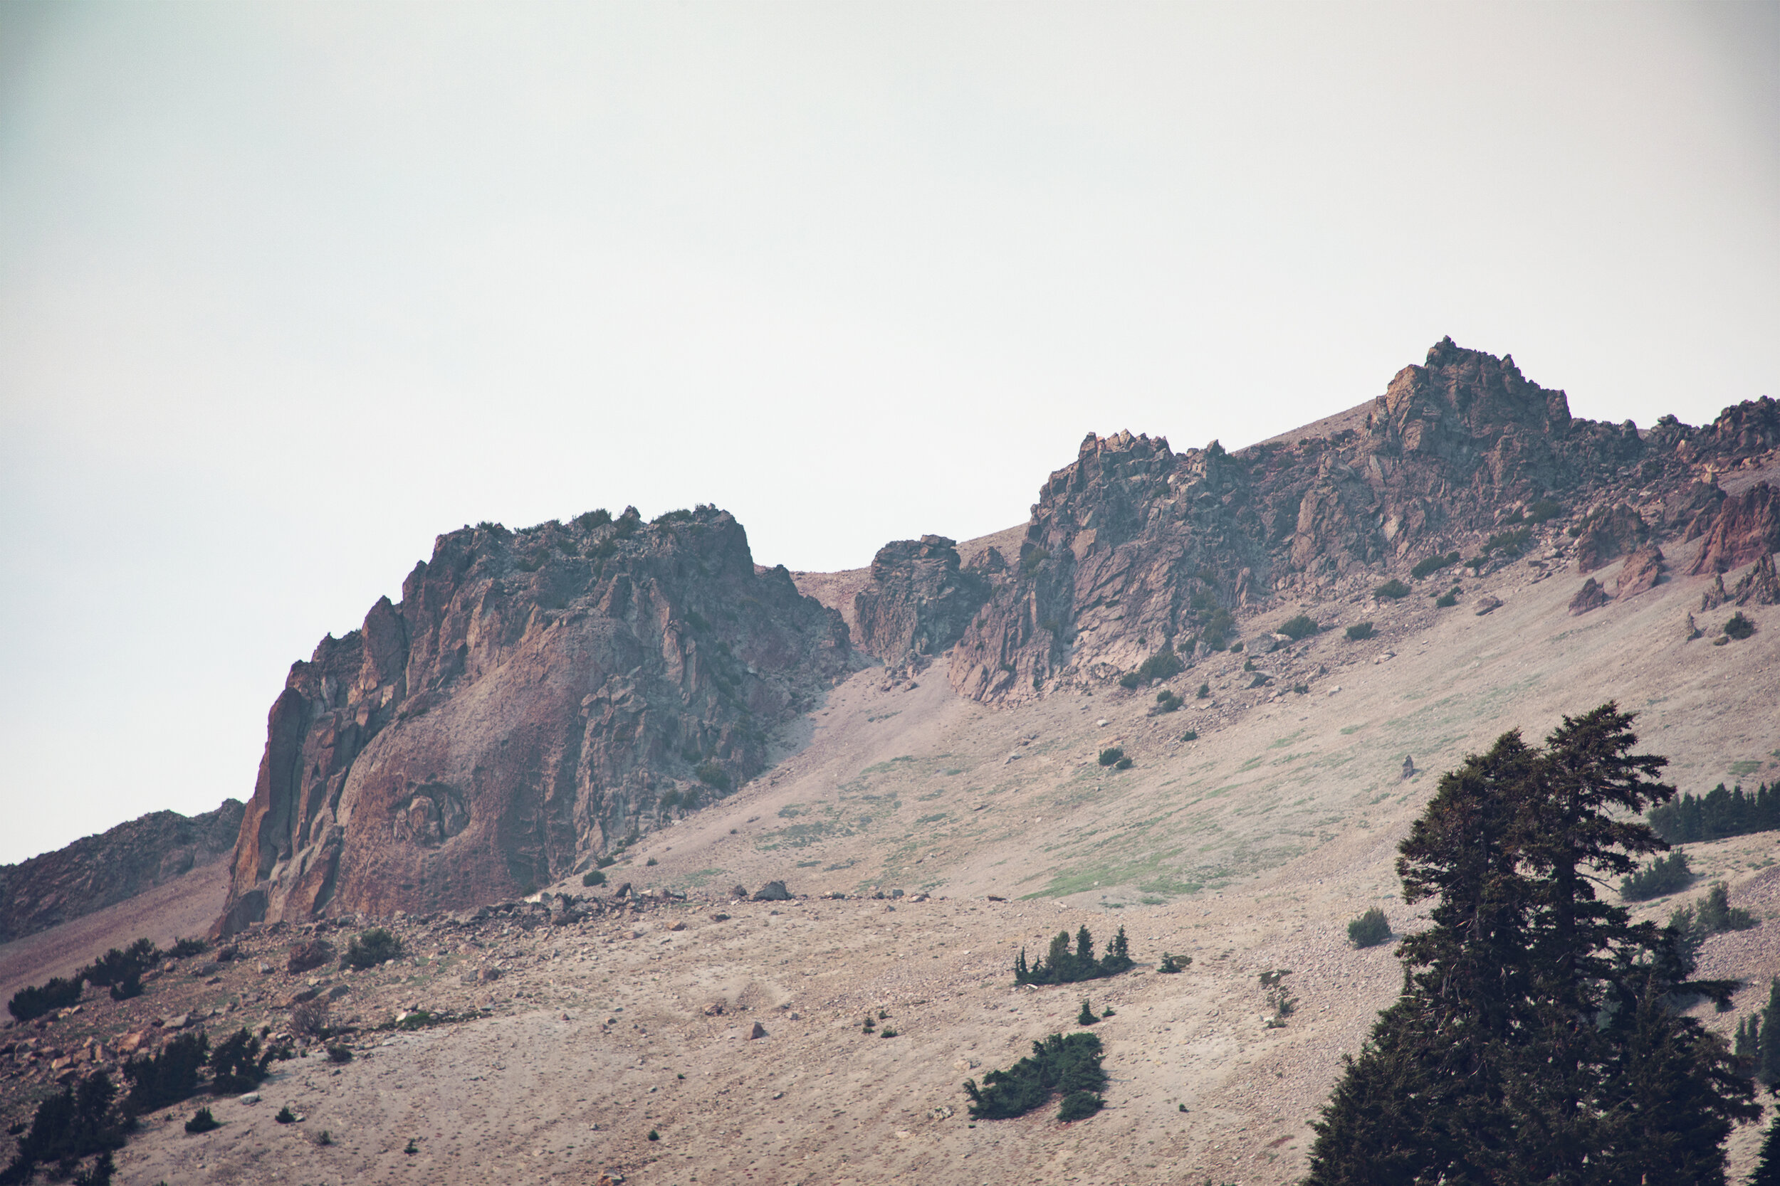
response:
<path id="1" fill-rule="evenodd" d="M 1677 1005 L 1736 985 L 1693 980 L 1673 928 L 1597 896 L 1666 848 L 1639 821 L 1675 793 L 1666 759 L 1634 754 L 1630 725 L 1604 704 L 1440 779 L 1397 861 L 1433 925 L 1324 1106 L 1310 1186 L 1725 1181 L 1755 1085 Z"/>

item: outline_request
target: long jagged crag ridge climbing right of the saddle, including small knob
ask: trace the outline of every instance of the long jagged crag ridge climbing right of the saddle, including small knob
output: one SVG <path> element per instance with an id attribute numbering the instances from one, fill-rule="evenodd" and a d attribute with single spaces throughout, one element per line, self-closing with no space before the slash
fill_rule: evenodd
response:
<path id="1" fill-rule="evenodd" d="M 1582 573 L 1655 537 L 1712 533 L 1698 562 L 1712 571 L 1780 548 L 1773 491 L 1719 485 L 1780 445 L 1769 398 L 1703 429 L 1666 416 L 1639 432 L 1577 420 L 1513 357 L 1442 340 L 1371 409 L 1310 429 L 1235 453 L 1089 434 L 1040 491 L 1016 557 L 990 551 L 959 571 L 938 537 L 879 551 L 856 603 L 894 613 L 862 612 L 856 645 L 890 661 L 918 622 L 929 649 L 958 640 L 961 695 L 1011 702 L 1157 654 L 1191 661 L 1223 649 L 1242 617 L 1429 557 L 1461 551 L 1483 573 L 1561 528 L 1581 537 Z M 924 594 L 942 569 L 951 583 Z"/>

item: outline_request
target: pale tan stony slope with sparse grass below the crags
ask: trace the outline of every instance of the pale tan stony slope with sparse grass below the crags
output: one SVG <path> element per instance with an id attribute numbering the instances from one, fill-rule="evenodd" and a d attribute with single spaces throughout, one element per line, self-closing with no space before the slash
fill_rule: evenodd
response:
<path id="1" fill-rule="evenodd" d="M 1449 610 L 1426 589 L 1387 605 L 1330 590 L 1301 608 L 1337 629 L 1253 656 L 1258 672 L 1244 654 L 1184 672 L 1169 685 L 1187 701 L 1177 713 L 1153 711 L 1157 688 L 990 711 L 938 672 L 860 672 L 760 781 L 646 836 L 607 869 L 612 884 L 552 887 L 600 900 L 598 912 L 404 919 L 404 958 L 356 974 L 287 974 L 299 935 L 256 932 L 240 960 L 199 960 L 203 974 L 187 960 L 141 1001 L 89 994 L 80 1014 L 0 1035 L 0 1047 L 37 1042 L 0 1058 L 9 1122 L 87 1037 L 103 1056 L 155 1017 L 214 1035 L 278 1030 L 297 992 L 345 985 L 333 1008 L 358 1019 L 351 1063 L 278 1063 L 260 1102 L 221 1102 L 224 1127 L 206 1136 L 167 1122 L 189 1106 L 153 1118 L 123 1181 L 1290 1182 L 1342 1053 L 1399 983 L 1392 948 L 1353 950 L 1346 923 L 1383 905 L 1397 930 L 1415 925 L 1392 857 L 1440 770 L 1504 729 L 1536 738 L 1614 697 L 1643 713 L 1645 745 L 1673 759 L 1684 789 L 1780 775 L 1780 608 L 1748 610 L 1759 633 L 1714 647 L 1682 635 L 1698 578 L 1582 617 L 1565 610 L 1581 580 L 1563 557 L 1460 583 Z M 1502 606 L 1477 615 L 1486 597 Z M 1358 621 L 1378 637 L 1347 642 L 1339 628 Z M 1273 683 L 1251 688 L 1255 674 Z M 1109 745 L 1134 766 L 1100 766 Z M 1776 841 L 1687 846 L 1769 919 L 1707 944 L 1702 971 L 1752 985 L 1736 1012 L 1703 1015 L 1723 1033 L 1780 974 Z M 732 885 L 769 878 L 799 896 L 733 902 Z M 614 907 L 619 882 L 646 903 Z M 1666 918 L 1703 884 L 1641 912 Z M 862 896 L 895 889 L 901 900 Z M 822 898 L 835 893 L 847 896 Z M 1123 925 L 1139 969 L 1013 987 L 1020 946 L 1036 953 L 1080 925 L 1102 942 Z M 87 957 L 126 932 L 89 935 Z M 1162 951 L 1193 964 L 1159 974 Z M 1258 974 L 1282 967 L 1298 1005 L 1267 1028 Z M 1109 1108 L 1077 1124 L 1050 1111 L 972 1124 L 959 1083 L 1072 1030 L 1082 996 L 1114 1008 L 1095 1028 Z M 413 1006 L 468 1019 L 372 1030 Z M 897 1037 L 863 1031 L 879 1012 Z M 765 1037 L 751 1038 L 756 1022 Z M 304 1120 L 274 1124 L 285 1102 Z M 1736 1138 L 1737 1165 L 1753 1136 Z"/>

